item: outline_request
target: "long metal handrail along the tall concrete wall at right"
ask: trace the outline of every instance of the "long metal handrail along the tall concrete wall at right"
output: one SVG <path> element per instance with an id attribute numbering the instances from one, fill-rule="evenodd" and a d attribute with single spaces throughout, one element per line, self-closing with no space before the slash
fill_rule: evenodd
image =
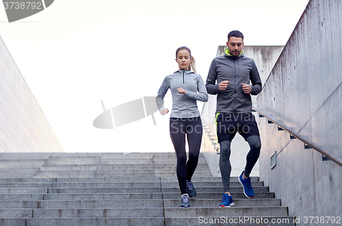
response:
<path id="1" fill-rule="evenodd" d="M 273 118 L 269 114 L 267 114 L 267 113 L 263 112 L 262 110 L 260 110 L 259 108 L 255 107 L 254 105 L 252 105 L 252 108 L 254 110 L 256 110 L 257 112 L 259 112 L 260 114 L 262 114 L 263 116 L 265 116 L 266 118 L 268 118 L 270 121 L 276 123 L 276 125 L 282 127 L 282 129 L 285 129 L 286 131 L 288 131 L 290 134 L 292 134 L 296 138 L 302 140 L 302 142 L 304 142 L 306 145 L 312 147 L 313 149 L 315 149 L 319 153 L 322 153 L 323 155 L 326 155 L 328 158 L 330 158 L 330 160 L 332 160 L 332 161 L 336 162 L 337 164 L 339 164 L 340 166 L 342 166 L 342 160 L 338 156 L 334 155 L 333 153 L 329 153 L 324 148 L 319 147 L 319 145 L 315 144 L 311 140 L 308 140 L 308 139 L 304 138 L 304 136 L 298 134 L 298 132 L 294 131 L 290 127 L 287 127 L 283 123 L 280 123 L 280 121 L 276 120 L 276 118 Z"/>

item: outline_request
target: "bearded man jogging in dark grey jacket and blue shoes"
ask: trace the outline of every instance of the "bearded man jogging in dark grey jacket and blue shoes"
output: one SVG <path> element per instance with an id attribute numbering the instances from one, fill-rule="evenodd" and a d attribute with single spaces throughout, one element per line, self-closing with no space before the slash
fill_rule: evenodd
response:
<path id="1" fill-rule="evenodd" d="M 216 108 L 216 131 L 220 143 L 220 171 L 224 188 L 220 207 L 233 206 L 230 192 L 231 141 L 238 132 L 250 145 L 245 170 L 239 176 L 244 194 L 252 199 L 254 190 L 250 184 L 250 172 L 257 162 L 261 141 L 255 118 L 252 114 L 250 95 L 261 92 L 261 79 L 254 60 L 242 53 L 244 35 L 239 31 L 228 34 L 228 49 L 224 55 L 211 62 L 206 88 L 209 94 L 218 95 Z M 215 82 L 217 81 L 217 83 Z M 250 85 L 250 81 L 252 86 Z"/>

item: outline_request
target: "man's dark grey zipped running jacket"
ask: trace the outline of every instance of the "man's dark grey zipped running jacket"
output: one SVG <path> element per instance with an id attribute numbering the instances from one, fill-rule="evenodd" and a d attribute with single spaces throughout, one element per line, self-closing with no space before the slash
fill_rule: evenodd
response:
<path id="1" fill-rule="evenodd" d="M 226 80 L 230 81 L 228 87 L 220 91 L 218 84 Z M 246 94 L 241 84 L 250 84 L 250 81 L 252 92 Z M 216 113 L 246 113 L 252 112 L 250 95 L 261 92 L 261 79 L 254 60 L 245 57 L 243 53 L 233 57 L 225 52 L 211 62 L 205 86 L 208 94 L 218 95 Z"/>

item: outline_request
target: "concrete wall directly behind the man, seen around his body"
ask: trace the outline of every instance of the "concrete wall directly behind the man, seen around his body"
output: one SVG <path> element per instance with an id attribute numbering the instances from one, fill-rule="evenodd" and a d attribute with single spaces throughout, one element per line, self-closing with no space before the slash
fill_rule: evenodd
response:
<path id="1" fill-rule="evenodd" d="M 244 55 L 248 58 L 252 58 L 257 64 L 259 74 L 261 77 L 261 82 L 264 84 L 269 73 L 272 70 L 272 67 L 278 60 L 278 57 L 284 47 L 283 46 L 244 46 L 242 51 Z M 226 46 L 218 47 L 218 53 L 216 56 L 220 56 L 224 54 L 224 50 Z M 253 104 L 257 104 L 257 96 L 252 96 Z M 216 96 L 209 95 L 209 101 L 203 105 L 202 109 L 202 121 L 207 124 L 207 128 L 211 131 L 213 135 L 213 139 L 217 142 L 216 138 L 216 129 L 215 129 L 215 111 L 216 111 Z M 259 117 L 258 114 L 254 114 L 256 118 Z M 216 145 L 220 147 L 219 144 Z M 237 134 L 233 139 L 231 144 L 231 165 L 232 165 L 232 176 L 238 176 L 244 171 L 246 165 L 246 155 L 250 150 L 248 143 Z M 213 149 L 213 145 L 209 140 L 207 134 L 203 134 L 202 136 L 202 153 L 205 155 L 207 163 L 209 164 L 209 168 L 211 169 L 211 173 L 215 177 L 220 177 L 220 167 L 218 165 L 220 155 L 217 154 L 217 151 Z M 252 176 L 259 176 L 259 162 L 254 166 L 253 171 L 251 173 Z"/>

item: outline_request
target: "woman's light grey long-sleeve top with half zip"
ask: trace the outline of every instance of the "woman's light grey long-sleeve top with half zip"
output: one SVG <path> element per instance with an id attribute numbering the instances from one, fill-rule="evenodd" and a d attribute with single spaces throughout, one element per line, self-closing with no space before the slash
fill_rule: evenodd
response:
<path id="1" fill-rule="evenodd" d="M 200 116 L 196 101 L 208 101 L 205 82 L 200 75 L 192 71 L 179 70 L 172 75 L 166 76 L 156 98 L 159 112 L 165 108 L 163 106 L 163 98 L 169 88 L 172 94 L 170 118 L 192 118 Z M 179 93 L 177 91 L 178 88 L 183 88 L 186 94 Z"/>

